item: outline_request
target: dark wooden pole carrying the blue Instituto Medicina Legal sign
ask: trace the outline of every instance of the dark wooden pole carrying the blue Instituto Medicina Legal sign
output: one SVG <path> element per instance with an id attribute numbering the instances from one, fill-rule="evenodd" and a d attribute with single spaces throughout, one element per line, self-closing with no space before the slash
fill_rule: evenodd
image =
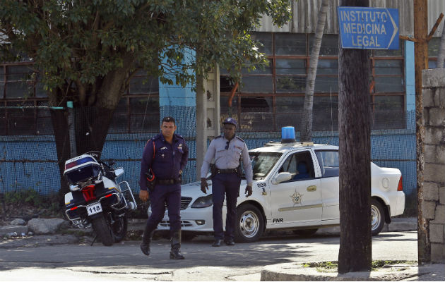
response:
<path id="1" fill-rule="evenodd" d="M 340 6 L 369 6 L 369 3 L 342 0 Z M 370 271 L 372 266 L 369 51 L 342 49 L 340 45 L 338 66 L 340 147 L 338 272 L 344 274 L 352 271 Z"/>

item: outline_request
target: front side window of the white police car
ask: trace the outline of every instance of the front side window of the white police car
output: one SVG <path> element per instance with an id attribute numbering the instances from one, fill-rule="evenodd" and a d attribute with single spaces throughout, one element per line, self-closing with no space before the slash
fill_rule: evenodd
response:
<path id="1" fill-rule="evenodd" d="M 314 178 L 314 164 L 311 154 L 306 151 L 290 155 L 278 172 L 291 173 L 292 180 L 290 181 Z"/>

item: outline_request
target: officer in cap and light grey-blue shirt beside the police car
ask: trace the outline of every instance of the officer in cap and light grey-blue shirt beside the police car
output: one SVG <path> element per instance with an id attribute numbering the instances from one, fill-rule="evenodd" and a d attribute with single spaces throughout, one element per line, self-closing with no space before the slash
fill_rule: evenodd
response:
<path id="1" fill-rule="evenodd" d="M 213 231 L 215 242 L 213 247 L 220 247 L 224 239 L 226 245 L 235 245 L 235 224 L 237 221 L 237 197 L 241 183 L 241 164 L 247 180 L 245 193 L 252 195 L 253 171 L 249 158 L 249 149 L 241 138 L 235 135 L 237 121 L 235 118 L 226 118 L 223 122 L 224 134 L 210 142 L 201 168 L 201 191 L 207 193 L 206 175 L 210 162 L 215 159 L 215 168 L 212 172 L 212 198 L 213 198 Z M 227 205 L 225 220 L 225 233 L 223 231 L 223 202 Z"/>

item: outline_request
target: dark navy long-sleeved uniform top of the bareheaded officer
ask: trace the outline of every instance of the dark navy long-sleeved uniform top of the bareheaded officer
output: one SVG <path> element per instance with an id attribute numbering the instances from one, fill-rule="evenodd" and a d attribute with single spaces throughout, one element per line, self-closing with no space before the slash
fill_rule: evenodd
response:
<path id="1" fill-rule="evenodd" d="M 153 144 L 154 154 L 153 154 Z M 153 159 L 154 155 L 154 159 Z M 181 135 L 174 134 L 172 144 L 165 141 L 164 135 L 158 134 L 148 140 L 143 149 L 141 161 L 141 190 L 147 190 L 146 175 L 148 168 L 153 170 L 157 179 L 177 179 L 179 171 L 184 171 L 189 158 L 189 147 Z"/>

